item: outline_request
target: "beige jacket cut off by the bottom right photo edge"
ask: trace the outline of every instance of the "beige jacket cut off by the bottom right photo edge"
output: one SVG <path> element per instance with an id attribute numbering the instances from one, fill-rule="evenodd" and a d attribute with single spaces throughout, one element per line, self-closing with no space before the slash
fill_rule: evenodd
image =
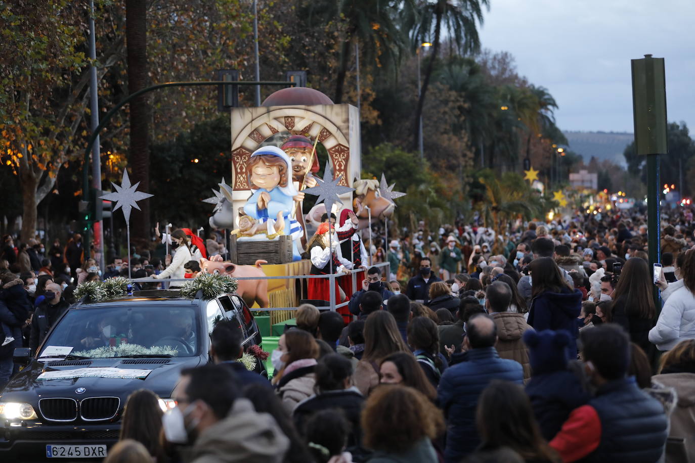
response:
<path id="1" fill-rule="evenodd" d="M 664 373 L 652 376 L 652 381 L 676 389 L 678 402 L 671 412 L 669 438 L 685 439 L 688 461 L 695 462 L 695 373 Z"/>

